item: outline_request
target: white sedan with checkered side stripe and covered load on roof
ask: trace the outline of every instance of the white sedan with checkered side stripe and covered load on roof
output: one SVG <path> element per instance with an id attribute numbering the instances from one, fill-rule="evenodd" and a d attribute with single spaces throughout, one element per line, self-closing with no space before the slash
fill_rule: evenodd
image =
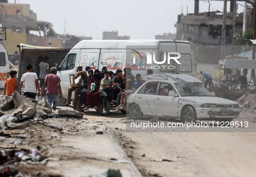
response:
<path id="1" fill-rule="evenodd" d="M 148 81 L 127 98 L 130 117 L 173 117 L 182 122 L 216 120 L 231 122 L 240 108 L 235 101 L 215 97 L 203 82 L 188 75 L 150 75 Z"/>

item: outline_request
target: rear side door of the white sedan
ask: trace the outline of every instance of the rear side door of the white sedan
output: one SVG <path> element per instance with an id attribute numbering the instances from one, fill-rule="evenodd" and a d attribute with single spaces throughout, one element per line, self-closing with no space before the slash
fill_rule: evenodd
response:
<path id="1" fill-rule="evenodd" d="M 135 95 L 135 101 L 144 115 L 155 115 L 155 97 L 159 82 L 149 82 Z"/>

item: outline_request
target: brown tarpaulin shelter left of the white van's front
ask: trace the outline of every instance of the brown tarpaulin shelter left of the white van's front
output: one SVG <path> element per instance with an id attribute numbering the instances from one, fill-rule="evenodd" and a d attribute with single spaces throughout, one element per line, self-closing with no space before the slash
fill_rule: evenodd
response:
<path id="1" fill-rule="evenodd" d="M 19 44 L 19 77 L 18 86 L 20 83 L 21 76 L 27 72 L 26 66 L 33 64 L 39 56 L 49 57 L 48 64 L 50 68 L 54 66 L 54 63 L 60 65 L 62 60 L 71 50 L 71 48 L 56 48 L 56 47 L 41 47 L 28 44 Z"/>

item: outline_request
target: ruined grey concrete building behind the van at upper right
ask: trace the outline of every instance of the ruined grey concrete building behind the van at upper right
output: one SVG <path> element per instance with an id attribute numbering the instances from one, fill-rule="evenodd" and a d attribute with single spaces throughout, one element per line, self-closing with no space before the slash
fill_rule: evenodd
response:
<path id="1" fill-rule="evenodd" d="M 226 19 L 226 45 L 228 47 L 224 56 L 242 52 L 241 47 L 235 46 L 233 35 L 243 34 L 251 28 L 254 6 L 254 0 L 228 1 L 230 1 L 230 6 L 227 6 Z M 246 2 L 243 13 L 237 13 L 238 1 Z M 218 60 L 221 60 L 222 24 L 223 12 L 210 11 L 209 3 L 209 11 L 199 13 L 199 0 L 194 0 L 194 13 L 178 15 L 176 40 L 190 41 L 193 44 L 194 58 L 198 63 L 197 71 L 200 72 L 206 68 L 211 73 L 214 71 L 214 66 L 218 64 Z"/>

